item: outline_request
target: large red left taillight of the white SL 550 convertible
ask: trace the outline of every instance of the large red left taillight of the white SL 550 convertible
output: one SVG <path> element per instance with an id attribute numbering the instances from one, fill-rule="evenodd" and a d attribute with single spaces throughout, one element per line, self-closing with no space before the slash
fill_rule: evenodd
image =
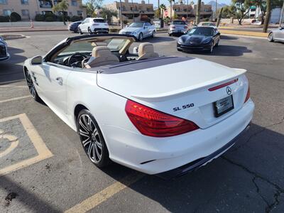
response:
<path id="1" fill-rule="evenodd" d="M 192 121 L 165 114 L 131 100 L 127 100 L 125 111 L 132 124 L 146 136 L 178 136 L 182 133 L 200 129 Z"/>

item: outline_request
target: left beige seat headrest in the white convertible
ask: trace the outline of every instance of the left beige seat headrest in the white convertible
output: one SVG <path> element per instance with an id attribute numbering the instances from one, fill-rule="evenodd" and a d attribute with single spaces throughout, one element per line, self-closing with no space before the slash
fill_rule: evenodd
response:
<path id="1" fill-rule="evenodd" d="M 94 47 L 92 57 L 84 63 L 85 68 L 111 65 L 119 62 L 119 58 L 111 53 L 111 50 L 105 46 Z"/>

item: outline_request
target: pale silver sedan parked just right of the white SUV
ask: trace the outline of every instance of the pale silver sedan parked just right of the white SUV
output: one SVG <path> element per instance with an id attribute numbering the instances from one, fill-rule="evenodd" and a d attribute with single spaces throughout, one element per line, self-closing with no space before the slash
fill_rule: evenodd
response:
<path id="1" fill-rule="evenodd" d="M 148 22 L 133 22 L 126 28 L 119 31 L 119 34 L 133 35 L 136 40 L 143 40 L 147 37 L 155 37 L 156 28 Z"/>

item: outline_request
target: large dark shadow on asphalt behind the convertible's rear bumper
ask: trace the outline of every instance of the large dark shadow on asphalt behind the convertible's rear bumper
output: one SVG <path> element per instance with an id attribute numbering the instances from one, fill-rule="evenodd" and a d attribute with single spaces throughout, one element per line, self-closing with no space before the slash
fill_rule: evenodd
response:
<path id="1" fill-rule="evenodd" d="M 281 141 L 283 134 L 252 124 L 229 151 L 195 172 L 173 180 L 145 175 L 129 187 L 170 212 L 242 212 L 241 208 L 262 212 L 266 203 L 258 192 L 263 192 L 264 197 L 269 192 L 265 195 L 268 186 L 261 185 L 261 181 L 272 180 L 277 185 L 283 178 L 283 165 L 279 164 L 284 162 Z M 104 172 L 121 181 L 121 173 L 129 173 L 129 169 L 113 164 Z M 144 202 L 143 197 L 139 202 Z M 261 202 L 263 205 L 256 207 Z"/>

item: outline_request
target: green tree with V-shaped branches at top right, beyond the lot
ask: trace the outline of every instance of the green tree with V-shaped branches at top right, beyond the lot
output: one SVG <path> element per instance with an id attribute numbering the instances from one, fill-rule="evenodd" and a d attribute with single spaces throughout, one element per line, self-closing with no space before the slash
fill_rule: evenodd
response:
<path id="1" fill-rule="evenodd" d="M 249 13 L 249 8 L 252 5 L 251 0 L 232 0 L 232 4 L 231 10 L 241 25 L 244 17 Z"/>

